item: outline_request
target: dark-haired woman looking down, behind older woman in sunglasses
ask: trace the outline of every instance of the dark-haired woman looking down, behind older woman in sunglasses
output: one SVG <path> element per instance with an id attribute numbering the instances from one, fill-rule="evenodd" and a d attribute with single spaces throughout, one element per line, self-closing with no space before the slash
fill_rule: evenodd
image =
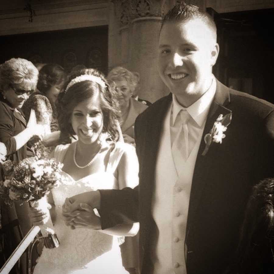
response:
<path id="1" fill-rule="evenodd" d="M 26 118 L 34 109 L 37 123 L 44 125 L 44 135 L 58 131 L 56 100 L 63 90 L 66 80 L 65 70 L 57 64 L 46 64 L 39 72 L 37 92 L 33 93 L 22 107 Z"/>

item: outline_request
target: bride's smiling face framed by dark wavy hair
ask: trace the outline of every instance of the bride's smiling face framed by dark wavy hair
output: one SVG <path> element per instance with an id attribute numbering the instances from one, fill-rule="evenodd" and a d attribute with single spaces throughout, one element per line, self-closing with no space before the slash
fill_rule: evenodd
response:
<path id="1" fill-rule="evenodd" d="M 100 108 L 99 92 L 74 107 L 71 124 L 80 142 L 96 142 L 103 130 L 103 112 Z"/>

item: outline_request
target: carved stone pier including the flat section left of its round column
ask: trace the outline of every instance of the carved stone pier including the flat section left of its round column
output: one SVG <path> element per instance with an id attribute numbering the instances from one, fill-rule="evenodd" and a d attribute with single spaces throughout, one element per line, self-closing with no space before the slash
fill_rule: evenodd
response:
<path id="1" fill-rule="evenodd" d="M 205 1 L 193 2 L 205 9 Z M 162 16 L 176 0 L 112 0 L 109 17 L 109 70 L 121 65 L 139 72 L 139 97 L 151 102 L 167 95 L 157 71 Z"/>

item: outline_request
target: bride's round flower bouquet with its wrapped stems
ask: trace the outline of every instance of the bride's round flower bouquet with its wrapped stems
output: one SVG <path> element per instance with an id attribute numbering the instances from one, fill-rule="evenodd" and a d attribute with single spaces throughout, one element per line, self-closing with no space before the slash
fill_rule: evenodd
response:
<path id="1" fill-rule="evenodd" d="M 36 152 L 40 154 L 20 161 L 5 174 L 5 181 L 0 181 L 0 198 L 5 204 L 11 206 L 14 201 L 30 202 L 32 207 L 48 210 L 47 195 L 60 184 L 63 165 L 54 159 L 47 159 L 47 153 L 41 147 L 37 144 Z M 40 229 L 46 248 L 59 246 L 51 218 Z"/>

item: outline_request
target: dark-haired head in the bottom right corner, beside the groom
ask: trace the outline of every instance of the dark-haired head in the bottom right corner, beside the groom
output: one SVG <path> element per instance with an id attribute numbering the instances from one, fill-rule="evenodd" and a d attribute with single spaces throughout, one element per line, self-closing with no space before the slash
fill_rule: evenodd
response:
<path id="1" fill-rule="evenodd" d="M 235 262 L 225 273 L 274 273 L 274 178 L 265 179 L 253 188 Z"/>

